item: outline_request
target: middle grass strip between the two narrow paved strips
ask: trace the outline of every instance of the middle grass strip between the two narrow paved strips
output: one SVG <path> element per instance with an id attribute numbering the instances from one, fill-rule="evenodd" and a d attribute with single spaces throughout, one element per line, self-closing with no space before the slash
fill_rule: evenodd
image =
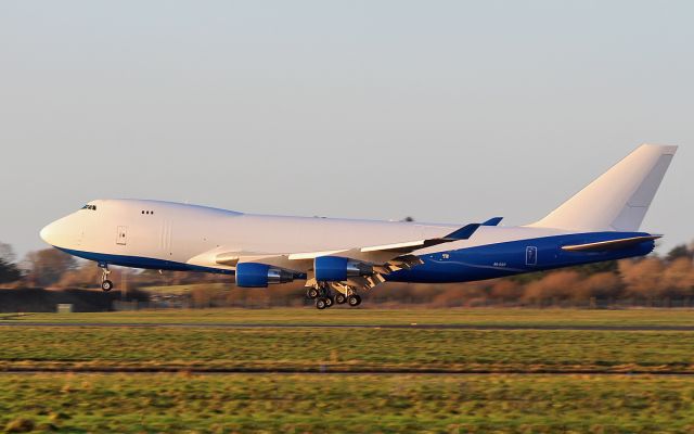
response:
<path id="1" fill-rule="evenodd" d="M 8 328 L 0 369 L 694 372 L 694 332 Z"/>

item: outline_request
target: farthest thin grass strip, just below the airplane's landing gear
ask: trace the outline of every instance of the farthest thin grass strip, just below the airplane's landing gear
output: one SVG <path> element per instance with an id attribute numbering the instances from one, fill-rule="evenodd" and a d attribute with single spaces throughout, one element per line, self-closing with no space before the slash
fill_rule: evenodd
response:
<path id="1" fill-rule="evenodd" d="M 275 309 L 140 310 L 98 314 L 0 315 L 0 322 L 140 323 L 350 323 L 350 324 L 564 324 L 694 326 L 694 309 L 354 309 L 335 307 Z"/>

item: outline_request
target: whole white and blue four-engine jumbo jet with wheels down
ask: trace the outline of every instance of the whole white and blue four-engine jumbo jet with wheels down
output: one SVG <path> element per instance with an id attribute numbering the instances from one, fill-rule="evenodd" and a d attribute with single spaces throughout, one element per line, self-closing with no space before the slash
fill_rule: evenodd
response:
<path id="1" fill-rule="evenodd" d="M 643 144 L 544 218 L 467 225 L 244 214 L 151 200 L 97 200 L 40 237 L 108 266 L 235 276 L 240 288 L 305 280 L 318 309 L 358 306 L 386 281 L 450 283 L 651 253 L 639 231 L 677 146 Z"/>

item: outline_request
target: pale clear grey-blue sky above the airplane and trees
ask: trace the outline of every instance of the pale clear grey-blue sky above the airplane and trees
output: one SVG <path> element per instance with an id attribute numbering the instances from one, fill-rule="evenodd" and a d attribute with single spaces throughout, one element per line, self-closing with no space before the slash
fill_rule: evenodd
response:
<path id="1" fill-rule="evenodd" d="M 694 240 L 694 2 L 0 0 L 0 241 L 93 199 L 532 222 L 679 144 L 642 229 Z"/>

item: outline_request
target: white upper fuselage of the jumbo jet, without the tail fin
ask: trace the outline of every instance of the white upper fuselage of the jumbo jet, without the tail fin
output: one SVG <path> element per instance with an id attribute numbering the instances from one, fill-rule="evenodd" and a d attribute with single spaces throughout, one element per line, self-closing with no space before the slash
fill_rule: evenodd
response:
<path id="1" fill-rule="evenodd" d="M 74 252 L 156 258 L 217 269 L 221 253 L 297 254 L 442 237 L 461 225 L 281 217 L 144 200 L 97 200 L 41 231 L 50 244 Z M 422 250 L 440 252 L 566 231 L 483 227 L 470 240 Z M 305 271 L 305 270 L 304 270 Z"/>

